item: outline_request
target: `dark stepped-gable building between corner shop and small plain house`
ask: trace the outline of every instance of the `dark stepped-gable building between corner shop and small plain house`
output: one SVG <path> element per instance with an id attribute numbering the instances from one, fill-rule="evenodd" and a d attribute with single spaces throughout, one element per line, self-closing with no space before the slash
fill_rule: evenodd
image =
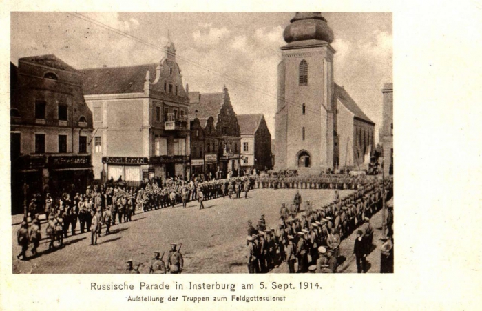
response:
<path id="1" fill-rule="evenodd" d="M 198 119 L 205 134 L 204 172 L 216 174 L 220 171 L 224 177 L 228 172 L 238 174 L 241 168 L 240 127 L 228 89 L 224 87 L 223 92 L 207 94 L 189 92 L 189 101 L 189 117 L 191 121 Z M 199 148 L 196 147 L 198 153 Z"/>

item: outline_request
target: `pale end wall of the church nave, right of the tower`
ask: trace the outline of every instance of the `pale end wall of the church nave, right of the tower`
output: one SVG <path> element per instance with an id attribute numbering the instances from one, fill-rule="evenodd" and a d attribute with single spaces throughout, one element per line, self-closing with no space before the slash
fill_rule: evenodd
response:
<path id="1" fill-rule="evenodd" d="M 337 105 L 339 168 L 353 166 L 353 113 L 341 102 Z"/>

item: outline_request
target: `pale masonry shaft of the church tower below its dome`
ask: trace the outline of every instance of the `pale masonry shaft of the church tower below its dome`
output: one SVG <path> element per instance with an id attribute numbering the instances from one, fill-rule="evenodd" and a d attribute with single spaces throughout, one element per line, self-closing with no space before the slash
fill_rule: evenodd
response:
<path id="1" fill-rule="evenodd" d="M 275 124 L 276 133 L 286 132 L 286 137 L 281 135 L 280 140 L 276 137 L 277 168 L 299 169 L 298 154 L 303 150 L 311 157 L 309 171 L 333 166 L 334 124 L 333 119 L 328 119 L 333 118 L 333 114 L 327 113 L 327 110 L 333 110 L 333 50 L 329 46 L 282 50 L 282 59 L 278 70 L 280 75 L 284 73 L 284 79 L 278 77 L 278 88 L 285 93 L 286 102 L 278 103 Z M 299 68 L 303 59 L 308 63 L 306 86 L 299 85 Z M 305 114 L 302 114 L 303 103 Z M 301 172 L 304 170 L 301 168 Z"/>

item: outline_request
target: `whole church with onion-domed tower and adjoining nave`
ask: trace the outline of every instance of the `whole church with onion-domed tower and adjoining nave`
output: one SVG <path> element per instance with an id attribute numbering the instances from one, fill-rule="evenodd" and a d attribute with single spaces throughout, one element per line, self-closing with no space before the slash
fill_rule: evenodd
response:
<path id="1" fill-rule="evenodd" d="M 333 81 L 334 34 L 326 19 L 319 12 L 297 12 L 283 37 L 287 44 L 281 47 L 277 68 L 275 170 L 319 174 L 370 161 L 365 155 L 373 149 L 375 123 Z M 339 119 L 340 110 L 348 121 Z M 364 138 L 358 137 L 358 128 L 364 129 Z"/>

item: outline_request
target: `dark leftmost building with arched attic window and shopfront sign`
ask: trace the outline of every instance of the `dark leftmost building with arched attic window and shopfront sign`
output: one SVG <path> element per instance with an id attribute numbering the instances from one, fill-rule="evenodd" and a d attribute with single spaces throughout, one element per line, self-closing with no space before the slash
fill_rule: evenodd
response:
<path id="1" fill-rule="evenodd" d="M 23 211 L 24 184 L 28 199 L 85 190 L 92 180 L 93 129 L 81 72 L 52 54 L 21 58 L 10 70 L 12 212 L 17 213 Z"/>

